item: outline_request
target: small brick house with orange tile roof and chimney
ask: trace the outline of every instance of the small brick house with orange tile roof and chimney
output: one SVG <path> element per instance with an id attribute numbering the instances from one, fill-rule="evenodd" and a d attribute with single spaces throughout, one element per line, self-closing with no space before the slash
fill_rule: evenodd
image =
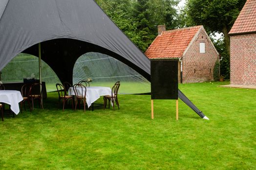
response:
<path id="1" fill-rule="evenodd" d="M 145 54 L 149 59 L 178 59 L 179 82 L 213 81 L 213 68 L 219 59 L 203 26 L 165 31 L 158 26 L 158 36 Z"/>

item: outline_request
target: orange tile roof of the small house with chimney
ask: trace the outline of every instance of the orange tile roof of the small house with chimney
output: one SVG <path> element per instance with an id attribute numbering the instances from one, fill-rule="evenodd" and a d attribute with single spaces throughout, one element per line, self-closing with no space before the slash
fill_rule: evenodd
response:
<path id="1" fill-rule="evenodd" d="M 200 28 L 203 26 L 164 31 L 155 38 L 145 54 L 149 59 L 180 58 Z"/>

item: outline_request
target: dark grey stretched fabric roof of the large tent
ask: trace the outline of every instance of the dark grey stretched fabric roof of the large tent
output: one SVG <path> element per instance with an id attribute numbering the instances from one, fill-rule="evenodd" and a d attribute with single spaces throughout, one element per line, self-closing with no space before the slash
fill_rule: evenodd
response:
<path id="1" fill-rule="evenodd" d="M 150 75 L 149 59 L 107 17 L 94 0 L 1 0 L 0 33 L 0 70 L 26 49 L 30 49 L 26 50 L 28 53 L 36 54 L 35 46 L 40 42 L 44 42 L 42 51 L 47 51 L 44 49 L 49 47 L 46 42 L 63 39 L 63 45 L 58 46 L 58 51 L 53 47 L 51 51 L 48 50 L 48 53 L 56 53 L 56 56 L 52 56 L 57 58 L 56 61 L 63 60 L 62 53 L 69 54 L 67 49 L 61 49 L 66 46 L 64 43 L 74 42 L 76 48 L 85 42 L 83 47 L 90 45 L 94 46 L 94 51 L 107 51 L 105 53 L 118 56 L 119 60 L 132 66 L 143 76 Z M 59 40 L 50 43 L 55 45 Z M 90 49 L 87 48 L 86 52 Z M 83 53 L 82 46 L 76 48 L 76 51 L 77 55 Z"/>

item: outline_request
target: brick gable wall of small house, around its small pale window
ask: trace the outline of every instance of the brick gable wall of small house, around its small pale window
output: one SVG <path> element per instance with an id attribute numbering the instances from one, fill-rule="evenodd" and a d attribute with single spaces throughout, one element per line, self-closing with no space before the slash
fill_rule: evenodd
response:
<path id="1" fill-rule="evenodd" d="M 213 68 L 219 56 L 207 36 L 201 30 L 189 50 L 185 53 L 182 59 L 183 83 L 213 81 Z M 205 42 L 205 53 L 199 52 L 200 42 Z"/>

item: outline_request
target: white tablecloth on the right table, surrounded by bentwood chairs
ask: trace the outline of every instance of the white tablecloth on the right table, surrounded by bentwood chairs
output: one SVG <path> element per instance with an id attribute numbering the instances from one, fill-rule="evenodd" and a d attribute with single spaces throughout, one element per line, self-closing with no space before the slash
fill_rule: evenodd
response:
<path id="1" fill-rule="evenodd" d="M 82 96 L 82 89 L 80 87 L 77 88 L 77 92 L 79 96 Z M 75 95 L 73 87 L 68 89 L 68 95 Z M 101 87 L 101 86 L 90 86 L 86 87 L 86 103 L 88 107 L 90 107 L 91 103 L 97 101 L 100 96 L 110 95 L 111 96 L 111 88 L 110 87 Z"/>

